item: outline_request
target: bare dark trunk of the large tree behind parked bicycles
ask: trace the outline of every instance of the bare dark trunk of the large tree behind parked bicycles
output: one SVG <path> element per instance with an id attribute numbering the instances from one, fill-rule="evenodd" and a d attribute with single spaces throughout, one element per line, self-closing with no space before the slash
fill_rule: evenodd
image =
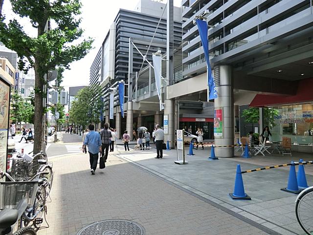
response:
<path id="1" fill-rule="evenodd" d="M 42 149 L 44 137 L 44 106 L 43 91 L 44 90 L 44 74 L 40 71 L 39 65 L 35 62 L 35 115 L 34 115 L 34 154 L 39 153 Z"/>

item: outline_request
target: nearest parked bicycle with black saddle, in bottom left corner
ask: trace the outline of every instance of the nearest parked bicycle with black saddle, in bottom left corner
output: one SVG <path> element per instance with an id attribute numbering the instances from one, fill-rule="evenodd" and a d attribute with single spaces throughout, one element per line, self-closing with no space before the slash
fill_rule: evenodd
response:
<path id="1" fill-rule="evenodd" d="M 0 178 L 6 175 L 0 172 Z M 36 181 L 0 182 L 0 235 L 36 235 L 33 228 L 23 228 L 23 213 L 35 201 Z"/>

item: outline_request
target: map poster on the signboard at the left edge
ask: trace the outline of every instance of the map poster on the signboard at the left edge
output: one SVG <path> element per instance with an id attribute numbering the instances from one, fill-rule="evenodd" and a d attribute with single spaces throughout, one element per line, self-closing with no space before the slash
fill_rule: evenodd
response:
<path id="1" fill-rule="evenodd" d="M 6 171 L 10 86 L 0 78 L 0 170 Z"/>

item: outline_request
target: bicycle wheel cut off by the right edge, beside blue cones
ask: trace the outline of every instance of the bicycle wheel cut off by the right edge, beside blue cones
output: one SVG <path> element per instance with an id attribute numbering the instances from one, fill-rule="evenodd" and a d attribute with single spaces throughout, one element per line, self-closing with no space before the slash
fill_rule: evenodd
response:
<path id="1" fill-rule="evenodd" d="M 295 205 L 295 214 L 301 228 L 308 235 L 313 235 L 313 188 L 299 197 Z"/>

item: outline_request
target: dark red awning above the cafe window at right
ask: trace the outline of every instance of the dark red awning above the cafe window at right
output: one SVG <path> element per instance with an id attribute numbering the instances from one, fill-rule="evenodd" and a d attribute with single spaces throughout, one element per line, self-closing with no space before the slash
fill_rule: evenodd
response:
<path id="1" fill-rule="evenodd" d="M 313 78 L 303 79 L 299 82 L 296 95 L 276 96 L 257 94 L 250 107 L 273 107 L 277 105 L 288 105 L 297 103 L 313 102 Z"/>

